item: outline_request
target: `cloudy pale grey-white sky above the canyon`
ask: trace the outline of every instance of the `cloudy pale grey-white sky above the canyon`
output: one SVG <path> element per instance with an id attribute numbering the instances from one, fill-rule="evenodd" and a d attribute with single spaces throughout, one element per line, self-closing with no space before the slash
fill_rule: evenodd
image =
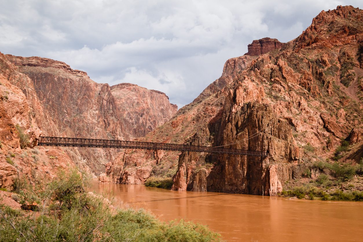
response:
<path id="1" fill-rule="evenodd" d="M 99 83 L 163 91 L 182 107 L 252 40 L 297 37 L 322 10 L 362 0 L 0 0 L 0 52 L 40 56 Z"/>

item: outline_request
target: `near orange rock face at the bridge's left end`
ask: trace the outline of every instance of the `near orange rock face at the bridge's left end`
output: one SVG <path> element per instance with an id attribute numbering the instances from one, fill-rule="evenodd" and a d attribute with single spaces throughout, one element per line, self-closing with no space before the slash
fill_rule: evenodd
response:
<path id="1" fill-rule="evenodd" d="M 30 78 L 0 53 L 0 68 L 34 89 Z M 12 189 L 26 182 L 36 184 L 51 180 L 60 169 L 76 167 L 74 160 L 60 149 L 30 148 L 41 134 L 36 115 L 42 116 L 43 105 L 34 93 L 3 73 L 0 74 L 0 187 Z M 37 112 L 36 112 L 37 110 Z M 24 139 L 24 136 L 25 139 Z M 24 146 L 24 140 L 29 147 Z"/>

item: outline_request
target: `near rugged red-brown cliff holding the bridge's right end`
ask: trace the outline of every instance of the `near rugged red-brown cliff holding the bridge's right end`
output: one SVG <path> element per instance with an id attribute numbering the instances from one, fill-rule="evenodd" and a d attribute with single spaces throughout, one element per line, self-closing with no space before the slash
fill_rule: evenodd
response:
<path id="1" fill-rule="evenodd" d="M 361 19 L 362 10 L 351 6 L 323 11 L 296 40 L 246 67 L 226 87 L 209 133 L 213 146 L 268 151 L 269 157 L 182 153 L 173 189 L 277 195 L 309 164 L 330 157 L 341 138 L 354 144 L 343 159 L 358 162 Z"/>

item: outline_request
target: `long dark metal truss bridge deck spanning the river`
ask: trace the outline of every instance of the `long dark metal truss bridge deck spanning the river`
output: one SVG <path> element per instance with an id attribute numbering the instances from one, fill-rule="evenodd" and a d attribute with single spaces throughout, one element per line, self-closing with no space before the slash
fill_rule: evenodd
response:
<path id="1" fill-rule="evenodd" d="M 167 151 L 189 151 L 218 154 L 249 155 L 266 157 L 267 152 L 248 151 L 244 149 L 231 149 L 223 147 L 209 147 L 185 144 L 151 143 L 139 141 L 104 140 L 104 139 L 82 139 L 61 137 L 39 137 L 37 145 L 44 146 L 73 146 L 73 147 L 99 147 L 99 148 L 126 148 L 126 149 L 150 149 Z"/>

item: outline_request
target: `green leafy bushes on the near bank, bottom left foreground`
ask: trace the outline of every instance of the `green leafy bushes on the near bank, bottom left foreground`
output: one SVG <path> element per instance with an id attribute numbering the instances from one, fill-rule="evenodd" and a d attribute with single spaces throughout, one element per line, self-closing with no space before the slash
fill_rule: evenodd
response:
<path id="1" fill-rule="evenodd" d="M 111 211 L 85 191 L 85 182 L 77 171 L 60 173 L 33 192 L 42 204 L 36 213 L 0 204 L 0 241 L 220 241 L 203 225 L 166 224 L 143 210 Z"/>

